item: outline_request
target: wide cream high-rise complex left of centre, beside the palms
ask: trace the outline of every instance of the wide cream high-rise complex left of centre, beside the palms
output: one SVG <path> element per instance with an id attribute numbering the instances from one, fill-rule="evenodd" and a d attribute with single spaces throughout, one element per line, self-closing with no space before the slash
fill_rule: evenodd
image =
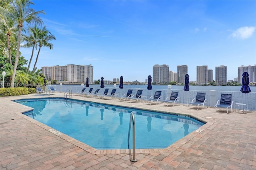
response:
<path id="1" fill-rule="evenodd" d="M 42 67 L 42 74 L 47 80 L 86 82 L 93 83 L 93 66 L 68 64 L 65 66 L 54 65 L 52 67 Z"/>

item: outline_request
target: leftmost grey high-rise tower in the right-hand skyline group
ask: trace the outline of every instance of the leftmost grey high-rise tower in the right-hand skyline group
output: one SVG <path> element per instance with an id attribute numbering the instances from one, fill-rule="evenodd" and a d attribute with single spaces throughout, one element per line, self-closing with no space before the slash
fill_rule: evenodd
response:
<path id="1" fill-rule="evenodd" d="M 153 80 L 152 83 L 169 83 L 169 66 L 166 64 L 163 65 L 154 65 L 153 66 Z"/>

